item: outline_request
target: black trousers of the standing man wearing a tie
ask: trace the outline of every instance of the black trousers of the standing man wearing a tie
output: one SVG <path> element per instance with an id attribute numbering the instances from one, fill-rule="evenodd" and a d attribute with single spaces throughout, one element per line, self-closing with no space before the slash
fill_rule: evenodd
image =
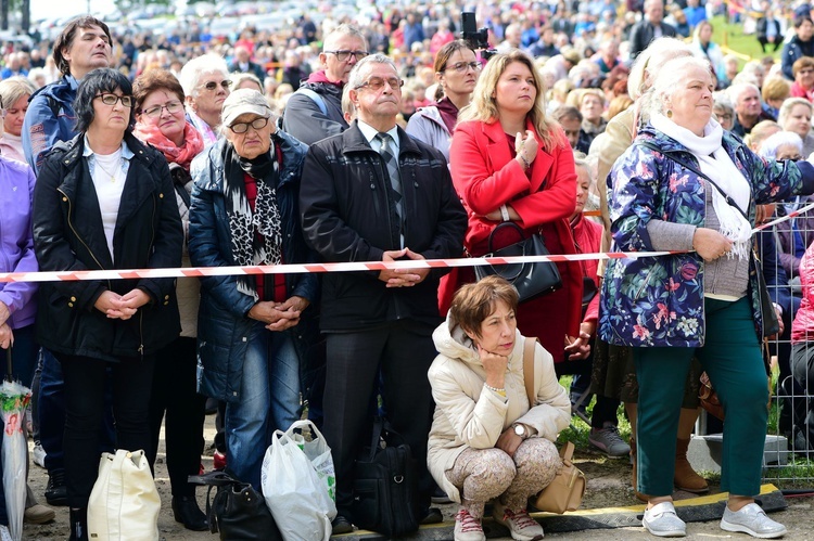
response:
<path id="1" fill-rule="evenodd" d="M 370 402 L 379 389 L 380 369 L 387 420 L 416 459 L 419 505 L 430 505 L 434 482 L 427 469 L 427 439 L 434 404 L 427 371 L 436 356 L 432 331 L 431 325 L 399 321 L 327 334 L 322 434 L 336 469 L 336 508 L 351 520 L 353 465 L 370 439 Z"/>

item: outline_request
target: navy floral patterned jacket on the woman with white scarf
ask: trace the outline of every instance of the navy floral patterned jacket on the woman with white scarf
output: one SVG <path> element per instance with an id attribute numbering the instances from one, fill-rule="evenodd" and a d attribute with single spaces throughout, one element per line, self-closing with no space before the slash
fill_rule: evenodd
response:
<path id="1" fill-rule="evenodd" d="M 649 141 L 662 152 L 636 144 L 639 141 Z M 752 223 L 755 202 L 771 203 L 814 191 L 811 164 L 763 160 L 726 131 L 722 144 L 752 186 Z M 671 159 L 671 154 L 699 167 L 686 147 L 648 125 L 613 165 L 607 179 L 612 252 L 653 250 L 647 232 L 652 218 L 703 227 L 707 181 Z M 599 336 L 610 344 L 633 347 L 703 346 L 703 267 L 695 252 L 610 260 L 601 289 Z M 760 334 L 754 273 L 751 261 L 749 292 Z"/>

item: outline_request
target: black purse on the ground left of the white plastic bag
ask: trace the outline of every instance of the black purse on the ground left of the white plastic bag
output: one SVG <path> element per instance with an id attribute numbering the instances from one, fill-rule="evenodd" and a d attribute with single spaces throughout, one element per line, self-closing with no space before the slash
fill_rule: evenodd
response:
<path id="1" fill-rule="evenodd" d="M 241 482 L 224 472 L 190 475 L 189 482 L 209 487 L 206 491 L 206 518 L 209 531 L 219 531 L 221 541 L 283 541 L 266 501 L 250 484 Z M 209 497 L 214 487 L 217 487 L 217 493 L 212 500 Z"/>

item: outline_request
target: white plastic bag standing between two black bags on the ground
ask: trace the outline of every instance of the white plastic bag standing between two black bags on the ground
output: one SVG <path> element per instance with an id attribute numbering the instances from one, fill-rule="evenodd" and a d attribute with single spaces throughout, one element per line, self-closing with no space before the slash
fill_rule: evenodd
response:
<path id="1" fill-rule="evenodd" d="M 294 428 L 292 425 L 289 430 Z M 275 431 L 263 459 L 260 486 L 266 505 L 285 541 L 329 541 L 336 504 L 304 449 L 289 433 Z"/>

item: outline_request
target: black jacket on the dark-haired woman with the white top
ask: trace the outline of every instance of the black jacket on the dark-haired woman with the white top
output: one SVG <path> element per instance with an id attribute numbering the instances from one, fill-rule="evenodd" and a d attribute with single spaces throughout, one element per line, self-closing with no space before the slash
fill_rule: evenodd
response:
<path id="1" fill-rule="evenodd" d="M 133 152 L 107 249 L 99 199 L 82 157 L 84 134 L 59 143 L 46 158 L 34 190 L 34 244 L 42 271 L 180 267 L 183 231 L 164 156 L 130 133 Z M 115 263 L 114 263 L 115 261 Z M 174 279 L 48 282 L 40 286 L 37 339 L 68 355 L 118 361 L 149 355 L 180 333 Z M 94 308 L 106 289 L 150 296 L 129 320 Z"/>

